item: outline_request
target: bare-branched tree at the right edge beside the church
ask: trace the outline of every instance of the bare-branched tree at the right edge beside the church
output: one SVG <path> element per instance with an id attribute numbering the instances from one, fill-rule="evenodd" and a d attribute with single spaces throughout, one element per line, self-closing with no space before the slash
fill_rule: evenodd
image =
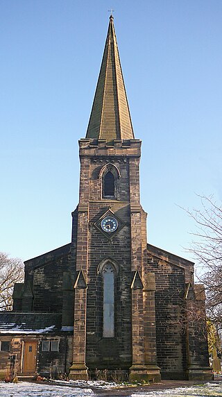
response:
<path id="1" fill-rule="evenodd" d="M 207 316 L 222 329 L 222 205 L 213 196 L 199 196 L 201 207 L 187 210 L 196 223 L 189 251 L 196 259 L 196 276 L 205 285 Z"/>

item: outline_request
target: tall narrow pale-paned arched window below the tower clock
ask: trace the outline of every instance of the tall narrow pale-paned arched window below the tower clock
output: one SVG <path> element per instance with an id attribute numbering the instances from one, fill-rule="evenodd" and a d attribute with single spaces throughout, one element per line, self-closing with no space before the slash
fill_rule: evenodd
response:
<path id="1" fill-rule="evenodd" d="M 114 337 L 114 267 L 107 262 L 103 267 L 103 337 Z"/>

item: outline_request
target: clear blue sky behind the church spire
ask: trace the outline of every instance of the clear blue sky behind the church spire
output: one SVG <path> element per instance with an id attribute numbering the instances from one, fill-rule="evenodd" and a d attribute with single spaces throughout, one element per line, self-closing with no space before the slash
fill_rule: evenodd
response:
<path id="1" fill-rule="evenodd" d="M 178 205 L 221 200 L 221 0 L 1 0 L 0 251 L 13 257 L 70 242 L 111 7 L 148 242 L 189 257 Z"/>

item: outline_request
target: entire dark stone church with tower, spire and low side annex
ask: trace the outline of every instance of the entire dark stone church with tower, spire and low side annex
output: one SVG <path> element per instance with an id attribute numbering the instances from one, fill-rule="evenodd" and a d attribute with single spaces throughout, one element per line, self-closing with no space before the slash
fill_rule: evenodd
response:
<path id="1" fill-rule="evenodd" d="M 130 380 L 212 378 L 194 263 L 147 244 L 135 137 L 113 17 L 85 138 L 71 242 L 25 262 L 0 314 L 0 375 L 119 370 Z M 191 316 L 192 314 L 192 316 Z"/>

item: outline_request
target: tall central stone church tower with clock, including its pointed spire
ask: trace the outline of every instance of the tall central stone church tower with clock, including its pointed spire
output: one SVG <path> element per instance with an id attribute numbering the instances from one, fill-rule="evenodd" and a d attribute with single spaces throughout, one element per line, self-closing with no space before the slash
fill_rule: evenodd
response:
<path id="1" fill-rule="evenodd" d="M 146 212 L 139 199 L 141 141 L 133 133 L 112 15 L 87 134 L 79 147 L 69 378 L 121 369 L 130 380 L 160 380 L 155 276 L 148 269 Z"/>

